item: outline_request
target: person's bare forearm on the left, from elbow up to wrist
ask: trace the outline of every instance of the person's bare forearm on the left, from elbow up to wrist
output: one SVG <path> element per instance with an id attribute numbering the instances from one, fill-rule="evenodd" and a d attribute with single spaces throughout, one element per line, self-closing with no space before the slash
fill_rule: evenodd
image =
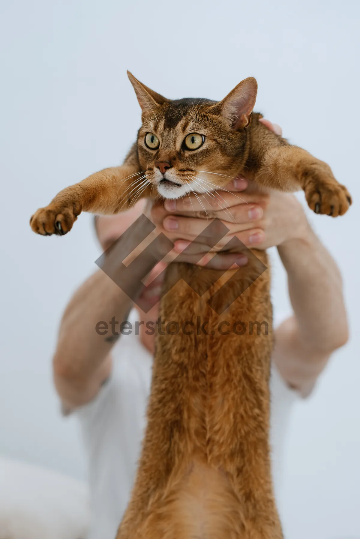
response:
<path id="1" fill-rule="evenodd" d="M 71 405 L 91 400 L 109 375 L 110 350 L 133 305 L 129 296 L 136 296 L 142 287 L 141 279 L 156 263 L 152 255 L 142 257 L 129 271 L 119 263 L 124 252 L 128 252 L 126 246 L 117 245 L 107 254 L 103 271 L 96 272 L 78 289 L 61 321 L 54 377 L 60 397 Z M 99 327 L 100 322 L 108 324 L 107 333 L 103 326 Z"/>

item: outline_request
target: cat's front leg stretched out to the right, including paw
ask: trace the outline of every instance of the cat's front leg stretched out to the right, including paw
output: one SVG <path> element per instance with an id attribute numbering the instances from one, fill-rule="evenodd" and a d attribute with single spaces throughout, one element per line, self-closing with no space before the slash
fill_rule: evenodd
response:
<path id="1" fill-rule="evenodd" d="M 315 213 L 337 217 L 351 205 L 347 188 L 337 182 L 329 165 L 296 146 L 269 148 L 255 179 L 280 191 L 303 189 Z"/>

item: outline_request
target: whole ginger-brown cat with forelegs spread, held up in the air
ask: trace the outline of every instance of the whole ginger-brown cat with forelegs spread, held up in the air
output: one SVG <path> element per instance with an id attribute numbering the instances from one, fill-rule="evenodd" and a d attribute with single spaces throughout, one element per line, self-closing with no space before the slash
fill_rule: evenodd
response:
<path id="1" fill-rule="evenodd" d="M 116 213 L 139 197 L 201 196 L 240 174 L 265 188 L 303 189 L 315 213 L 348 210 L 348 191 L 326 163 L 259 122 L 255 79 L 215 102 L 170 101 L 129 78 L 142 108 L 137 143 L 121 167 L 89 176 L 39 209 L 34 232 L 65 234 L 81 211 Z M 162 320 L 196 325 L 201 315 L 209 334 L 157 335 L 148 425 L 118 539 L 282 537 L 268 445 L 272 337 L 217 330 L 221 321 L 271 327 L 269 272 L 259 271 L 266 253 L 253 252 L 246 267 L 226 274 L 184 263 L 168 268 Z M 220 304 L 231 304 L 226 317 L 216 313 Z"/>

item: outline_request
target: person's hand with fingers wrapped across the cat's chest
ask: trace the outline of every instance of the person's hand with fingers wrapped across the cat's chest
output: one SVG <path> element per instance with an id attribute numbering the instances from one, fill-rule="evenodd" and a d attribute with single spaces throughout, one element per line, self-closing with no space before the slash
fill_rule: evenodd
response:
<path id="1" fill-rule="evenodd" d="M 260 121 L 281 135 L 279 126 L 265 119 Z M 213 253 L 223 248 L 233 236 L 245 246 L 257 249 L 278 246 L 302 236 L 307 220 L 293 195 L 246 190 L 248 184 L 245 178 L 234 178 L 224 189 L 211 195 L 189 195 L 176 201 L 155 203 L 148 206 L 148 216 L 175 244 L 177 253 L 185 247 L 188 247 L 186 255 L 190 258 L 203 253 L 204 258 L 195 262 L 200 266 L 209 262 Z M 202 237 L 199 241 L 198 237 L 215 218 L 220 219 L 229 232 L 216 246 L 209 248 L 211 238 Z M 194 263 L 193 259 L 184 261 Z M 214 262 L 229 267 L 230 262 L 245 265 L 247 258 L 244 254 L 236 259 L 236 253 L 221 253 Z"/>

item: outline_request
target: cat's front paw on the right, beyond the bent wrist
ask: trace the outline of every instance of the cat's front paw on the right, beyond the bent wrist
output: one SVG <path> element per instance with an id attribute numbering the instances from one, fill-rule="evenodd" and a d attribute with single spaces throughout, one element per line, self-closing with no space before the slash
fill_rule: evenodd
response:
<path id="1" fill-rule="evenodd" d="M 309 174 L 304 187 L 309 208 L 315 213 L 323 213 L 331 217 L 344 215 L 351 205 L 351 196 L 344 185 L 341 185 L 331 174 Z"/>

